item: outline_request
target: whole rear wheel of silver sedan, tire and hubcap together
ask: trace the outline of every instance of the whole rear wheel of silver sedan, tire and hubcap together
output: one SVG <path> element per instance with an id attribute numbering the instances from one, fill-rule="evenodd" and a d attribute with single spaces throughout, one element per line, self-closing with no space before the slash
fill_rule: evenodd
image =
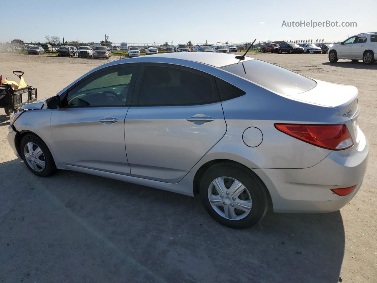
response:
<path id="1" fill-rule="evenodd" d="M 203 174 L 200 197 L 211 217 L 234 229 L 255 225 L 268 208 L 262 181 L 247 168 L 232 163 L 216 164 Z"/>

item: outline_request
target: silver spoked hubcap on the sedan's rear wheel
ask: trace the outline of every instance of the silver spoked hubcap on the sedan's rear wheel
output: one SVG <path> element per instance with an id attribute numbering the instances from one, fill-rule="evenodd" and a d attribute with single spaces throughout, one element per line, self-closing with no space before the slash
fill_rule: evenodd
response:
<path id="1" fill-rule="evenodd" d="M 251 196 L 245 186 L 230 177 L 219 177 L 208 187 L 208 200 L 212 208 L 229 220 L 245 218 L 251 211 Z"/>

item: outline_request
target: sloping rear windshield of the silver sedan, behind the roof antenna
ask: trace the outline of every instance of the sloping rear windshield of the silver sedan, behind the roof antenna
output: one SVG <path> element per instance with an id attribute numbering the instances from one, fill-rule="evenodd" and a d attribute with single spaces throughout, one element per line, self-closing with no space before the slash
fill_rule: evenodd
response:
<path id="1" fill-rule="evenodd" d="M 260 60 L 249 60 L 221 69 L 279 94 L 299 94 L 316 86 L 311 78 Z"/>

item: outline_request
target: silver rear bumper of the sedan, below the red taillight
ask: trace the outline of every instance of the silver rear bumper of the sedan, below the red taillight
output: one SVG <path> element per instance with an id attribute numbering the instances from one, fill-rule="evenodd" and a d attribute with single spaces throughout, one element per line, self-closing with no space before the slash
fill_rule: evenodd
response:
<path id="1" fill-rule="evenodd" d="M 357 145 L 332 151 L 317 165 L 302 169 L 252 169 L 265 182 L 275 212 L 333 212 L 357 194 L 368 162 L 369 143 L 363 133 Z M 356 188 L 346 196 L 333 188 Z"/>

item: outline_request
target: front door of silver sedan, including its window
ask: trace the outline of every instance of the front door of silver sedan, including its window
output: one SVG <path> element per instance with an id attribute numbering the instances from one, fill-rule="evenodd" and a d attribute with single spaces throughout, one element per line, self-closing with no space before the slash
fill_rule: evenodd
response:
<path id="1" fill-rule="evenodd" d="M 130 174 L 124 119 L 136 69 L 124 64 L 100 70 L 67 91 L 63 107 L 51 115 L 52 135 L 63 164 Z"/>

